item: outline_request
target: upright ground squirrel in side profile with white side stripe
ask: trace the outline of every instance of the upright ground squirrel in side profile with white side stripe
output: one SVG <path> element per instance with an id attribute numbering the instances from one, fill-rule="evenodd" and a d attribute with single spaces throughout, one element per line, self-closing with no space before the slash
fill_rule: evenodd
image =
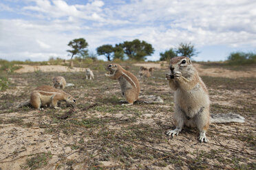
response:
<path id="1" fill-rule="evenodd" d="M 106 70 L 110 71 L 110 74 L 105 74 L 106 77 L 118 80 L 122 96 L 125 97 L 128 105 L 134 104 L 134 101 L 138 100 L 138 95 L 140 93 L 140 83 L 138 82 L 137 77 L 123 69 L 119 64 L 109 64 Z"/>

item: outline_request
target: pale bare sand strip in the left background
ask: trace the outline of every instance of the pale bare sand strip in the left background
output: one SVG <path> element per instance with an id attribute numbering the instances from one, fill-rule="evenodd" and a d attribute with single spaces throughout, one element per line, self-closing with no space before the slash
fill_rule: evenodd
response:
<path id="1" fill-rule="evenodd" d="M 15 73 L 28 73 L 28 72 L 34 72 L 34 71 L 43 71 L 43 72 L 85 71 L 85 68 L 73 67 L 72 69 L 70 69 L 70 67 L 68 67 L 68 66 L 60 66 L 60 65 L 30 66 L 30 65 L 25 65 L 25 64 L 19 64 L 17 66 L 22 66 L 22 68 L 14 71 Z"/>

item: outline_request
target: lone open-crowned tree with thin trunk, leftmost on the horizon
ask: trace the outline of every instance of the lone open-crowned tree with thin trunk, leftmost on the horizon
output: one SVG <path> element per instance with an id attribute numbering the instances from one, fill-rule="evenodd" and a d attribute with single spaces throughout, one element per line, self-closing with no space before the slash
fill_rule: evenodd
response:
<path id="1" fill-rule="evenodd" d="M 70 52 L 72 54 L 71 60 L 75 55 L 80 55 L 80 56 L 88 55 L 88 50 L 85 49 L 88 47 L 88 43 L 84 38 L 71 40 L 68 43 L 68 46 L 72 47 L 72 50 L 67 50 L 67 52 Z"/>

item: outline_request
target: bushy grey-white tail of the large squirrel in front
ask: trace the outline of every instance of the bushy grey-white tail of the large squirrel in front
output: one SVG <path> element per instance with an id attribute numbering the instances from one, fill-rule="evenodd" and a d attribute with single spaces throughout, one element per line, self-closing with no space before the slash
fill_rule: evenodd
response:
<path id="1" fill-rule="evenodd" d="M 229 112 L 226 114 L 211 114 L 210 118 L 211 123 L 244 123 L 244 117 L 239 114 L 235 114 L 233 112 Z"/>

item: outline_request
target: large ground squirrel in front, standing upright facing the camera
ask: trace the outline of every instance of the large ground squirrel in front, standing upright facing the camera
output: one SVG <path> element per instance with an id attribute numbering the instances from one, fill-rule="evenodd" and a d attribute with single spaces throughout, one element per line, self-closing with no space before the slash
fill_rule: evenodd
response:
<path id="1" fill-rule="evenodd" d="M 166 77 L 171 89 L 175 90 L 174 120 L 176 128 L 175 130 L 168 130 L 168 135 L 178 135 L 183 125 L 198 127 L 200 142 L 208 143 L 206 131 L 209 123 L 244 122 L 244 117 L 239 114 L 210 115 L 208 90 L 189 58 L 172 58 L 169 69 L 170 72 L 166 74 Z"/>

